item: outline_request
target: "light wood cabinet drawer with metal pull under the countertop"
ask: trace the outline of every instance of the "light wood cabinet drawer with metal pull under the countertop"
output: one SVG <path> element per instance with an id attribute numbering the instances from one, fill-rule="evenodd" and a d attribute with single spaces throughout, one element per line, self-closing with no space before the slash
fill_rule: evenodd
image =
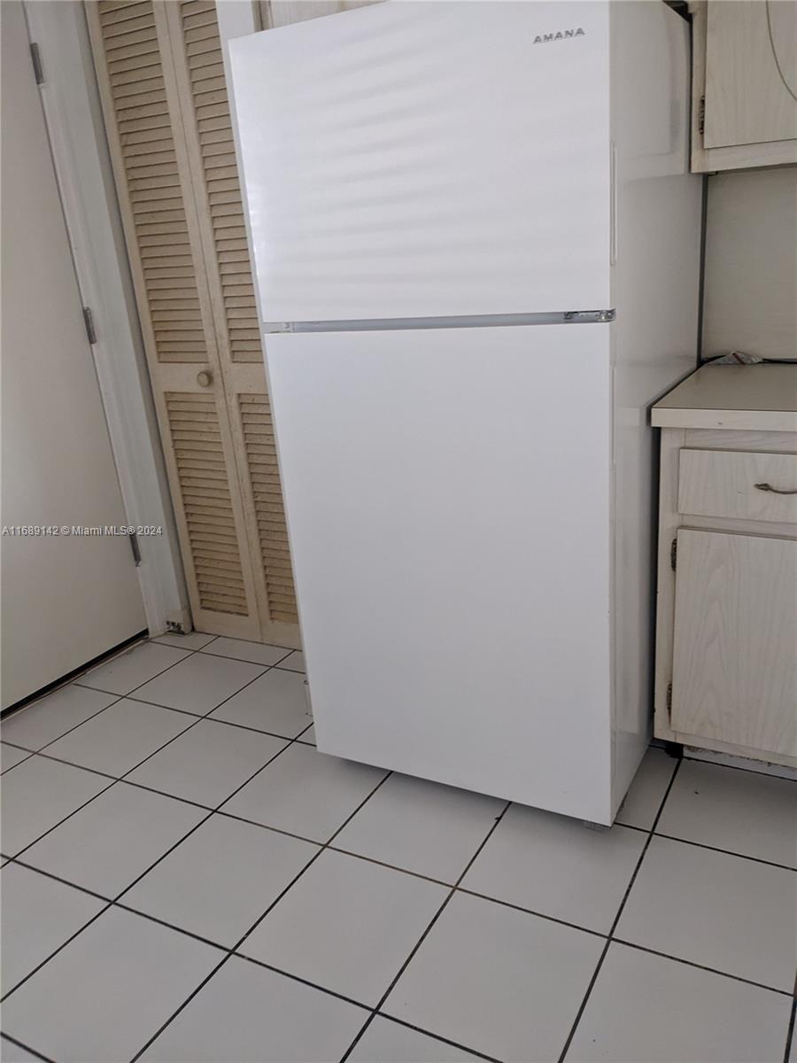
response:
<path id="1" fill-rule="evenodd" d="M 797 454 L 682 450 L 678 511 L 797 523 Z"/>

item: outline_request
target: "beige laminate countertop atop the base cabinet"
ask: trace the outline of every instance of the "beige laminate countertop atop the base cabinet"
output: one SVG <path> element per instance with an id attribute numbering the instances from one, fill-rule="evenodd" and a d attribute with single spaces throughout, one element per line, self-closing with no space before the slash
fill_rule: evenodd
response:
<path id="1" fill-rule="evenodd" d="M 797 365 L 701 366 L 656 403 L 651 424 L 797 432 Z"/>

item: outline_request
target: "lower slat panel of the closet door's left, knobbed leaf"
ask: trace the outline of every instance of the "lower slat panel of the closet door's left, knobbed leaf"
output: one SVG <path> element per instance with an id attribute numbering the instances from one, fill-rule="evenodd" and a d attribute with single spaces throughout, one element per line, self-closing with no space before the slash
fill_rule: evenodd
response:
<path id="1" fill-rule="evenodd" d="M 190 392 L 167 392 L 166 408 L 201 607 L 245 615 L 233 502 L 226 475 L 219 478 L 224 452 L 216 403 Z"/>

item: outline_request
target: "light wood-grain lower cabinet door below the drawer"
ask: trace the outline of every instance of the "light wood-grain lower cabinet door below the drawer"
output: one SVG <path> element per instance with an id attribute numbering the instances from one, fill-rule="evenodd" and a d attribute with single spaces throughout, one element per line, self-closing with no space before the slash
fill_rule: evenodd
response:
<path id="1" fill-rule="evenodd" d="M 678 532 L 673 729 L 797 755 L 797 540 Z"/>

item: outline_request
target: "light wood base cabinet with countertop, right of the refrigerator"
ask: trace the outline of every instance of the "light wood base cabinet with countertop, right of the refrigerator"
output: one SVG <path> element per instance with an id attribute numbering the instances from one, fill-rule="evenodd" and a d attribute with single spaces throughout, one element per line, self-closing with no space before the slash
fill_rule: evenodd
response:
<path id="1" fill-rule="evenodd" d="M 705 366 L 662 428 L 656 736 L 797 767 L 797 366 Z"/>

